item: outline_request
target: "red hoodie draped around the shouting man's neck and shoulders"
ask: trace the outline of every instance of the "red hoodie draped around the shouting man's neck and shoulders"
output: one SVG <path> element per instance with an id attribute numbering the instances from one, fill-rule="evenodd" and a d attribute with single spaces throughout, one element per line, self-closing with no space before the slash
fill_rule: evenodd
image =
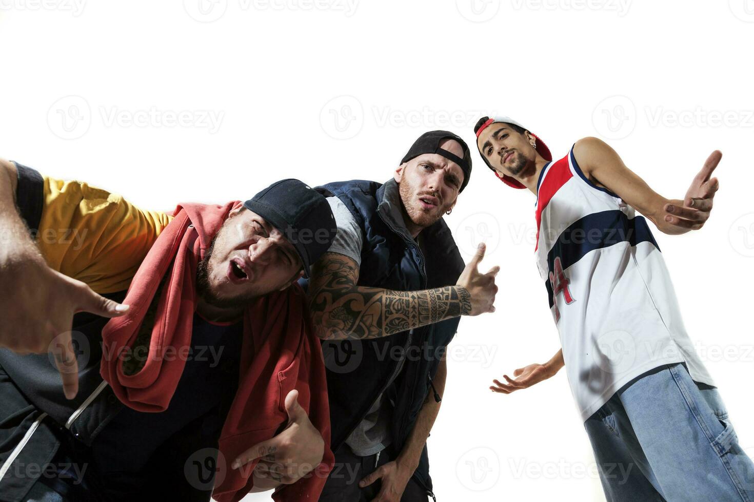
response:
<path id="1" fill-rule="evenodd" d="M 178 353 L 191 346 L 196 307 L 196 269 L 213 237 L 228 218 L 234 202 L 223 206 L 183 204 L 165 227 L 133 276 L 124 304 L 126 315 L 112 318 L 103 329 L 103 342 L 115 351 L 103 351 L 100 373 L 118 399 L 140 412 L 167 409 L 185 367 L 184 357 L 161 357 L 168 346 Z M 136 341 L 161 279 L 161 292 L 149 357 L 143 369 L 126 375 L 123 357 Z M 115 354 L 115 357 L 106 357 Z M 330 425 L 325 367 L 319 339 L 311 327 L 305 294 L 298 284 L 255 300 L 244 312 L 244 340 L 238 391 L 219 438 L 219 470 L 213 498 L 241 500 L 253 487 L 256 461 L 230 469 L 234 458 L 287 424 L 285 398 L 299 391 L 299 404 L 322 434 L 322 462 L 293 485 L 283 485 L 273 499 L 284 502 L 317 500 L 335 461 L 329 449 Z"/>

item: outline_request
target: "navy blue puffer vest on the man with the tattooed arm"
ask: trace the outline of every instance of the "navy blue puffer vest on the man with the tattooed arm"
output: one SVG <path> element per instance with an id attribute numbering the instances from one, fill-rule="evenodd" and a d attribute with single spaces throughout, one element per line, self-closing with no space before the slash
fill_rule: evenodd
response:
<path id="1" fill-rule="evenodd" d="M 443 220 L 419 235 L 421 248 L 403 223 L 398 185 L 374 181 L 343 181 L 320 187 L 337 196 L 363 230 L 358 285 L 396 291 L 415 291 L 454 285 L 464 269 L 452 234 Z M 327 388 L 333 450 L 346 440 L 380 393 L 394 404 L 391 425 L 397 451 L 412 431 L 425 397 L 432 395 L 431 379 L 458 329 L 459 318 L 379 339 L 324 342 L 328 351 L 356 357 L 342 369 L 328 364 Z M 329 347 L 327 345 L 330 345 Z M 386 388 L 403 360 L 394 384 Z M 415 476 L 431 488 L 427 452 Z"/>

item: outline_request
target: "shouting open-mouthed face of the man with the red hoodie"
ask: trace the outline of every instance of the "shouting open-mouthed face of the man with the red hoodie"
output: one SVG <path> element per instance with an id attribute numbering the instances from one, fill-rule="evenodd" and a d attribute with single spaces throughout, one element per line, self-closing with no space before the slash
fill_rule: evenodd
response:
<path id="1" fill-rule="evenodd" d="M 198 292 L 212 306 L 240 308 L 287 288 L 302 273 L 301 258 L 284 234 L 239 202 L 199 263 Z"/>

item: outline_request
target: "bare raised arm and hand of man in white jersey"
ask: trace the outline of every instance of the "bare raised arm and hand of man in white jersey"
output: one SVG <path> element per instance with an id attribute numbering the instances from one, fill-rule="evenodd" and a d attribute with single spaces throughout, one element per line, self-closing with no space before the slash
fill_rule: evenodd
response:
<path id="1" fill-rule="evenodd" d="M 576 141 L 574 156 L 593 181 L 606 187 L 644 214 L 658 230 L 671 235 L 699 230 L 710 218 L 713 198 L 718 190 L 717 178 L 711 178 L 722 158 L 714 151 L 701 171 L 691 181 L 684 199 L 666 199 L 632 172 L 621 157 L 598 138 Z"/>

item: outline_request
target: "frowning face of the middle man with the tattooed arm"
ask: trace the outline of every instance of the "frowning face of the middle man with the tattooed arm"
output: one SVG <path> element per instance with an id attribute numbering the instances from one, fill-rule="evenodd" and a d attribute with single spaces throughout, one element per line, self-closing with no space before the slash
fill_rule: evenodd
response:
<path id="1" fill-rule="evenodd" d="M 463 148 L 455 139 L 442 141 L 440 148 L 464 157 Z M 440 154 L 423 154 L 401 164 L 394 178 L 408 217 L 406 227 L 416 236 L 453 208 L 464 172 L 461 166 Z"/>

